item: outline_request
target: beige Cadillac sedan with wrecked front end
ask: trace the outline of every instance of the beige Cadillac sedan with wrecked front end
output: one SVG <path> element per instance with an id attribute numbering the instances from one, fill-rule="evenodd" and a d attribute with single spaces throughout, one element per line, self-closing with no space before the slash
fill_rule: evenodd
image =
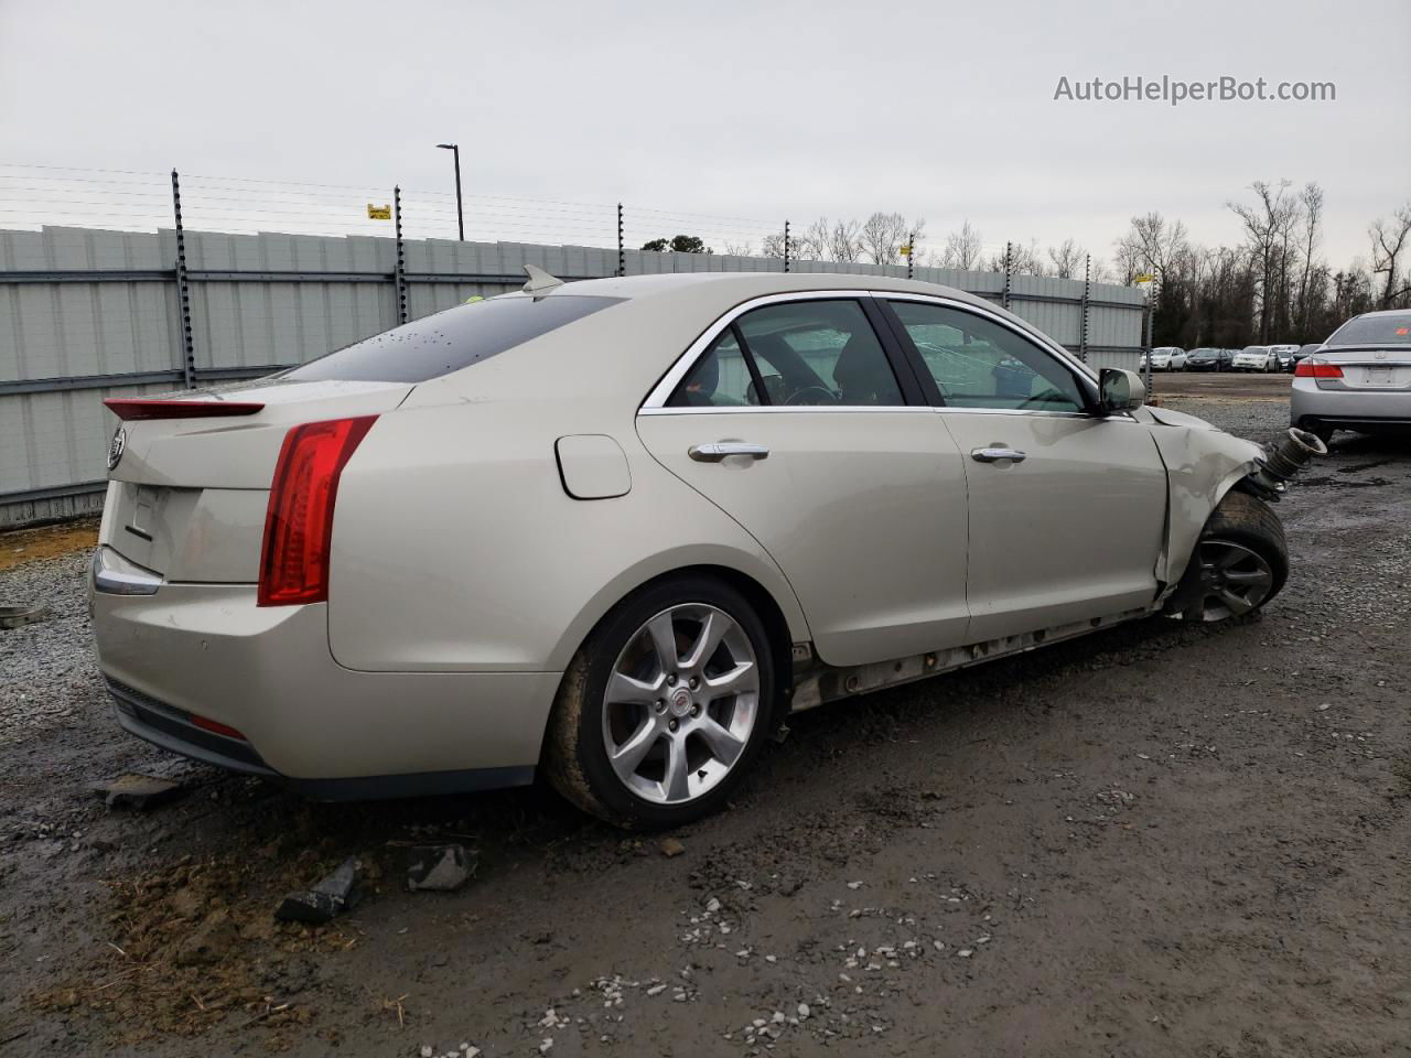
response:
<path id="1" fill-rule="evenodd" d="M 790 711 L 1288 568 L 1261 449 L 958 291 L 559 284 L 260 382 L 110 401 L 119 722 L 320 798 L 529 783 L 660 827 Z"/>

